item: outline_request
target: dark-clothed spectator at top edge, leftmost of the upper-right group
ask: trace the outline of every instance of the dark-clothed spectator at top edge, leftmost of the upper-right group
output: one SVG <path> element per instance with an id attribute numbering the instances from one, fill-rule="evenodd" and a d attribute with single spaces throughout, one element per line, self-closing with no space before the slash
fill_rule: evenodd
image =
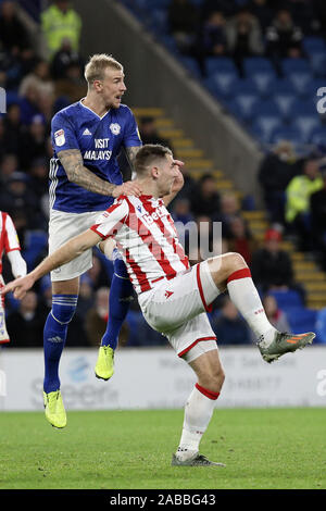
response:
<path id="1" fill-rule="evenodd" d="M 198 23 L 196 5 L 189 0 L 172 0 L 167 8 L 167 23 L 179 50 L 191 52 Z"/>

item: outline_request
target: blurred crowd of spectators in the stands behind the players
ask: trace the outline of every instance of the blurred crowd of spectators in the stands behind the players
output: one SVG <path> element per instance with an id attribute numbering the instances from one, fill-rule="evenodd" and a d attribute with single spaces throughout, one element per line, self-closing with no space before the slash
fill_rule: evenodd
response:
<path id="1" fill-rule="evenodd" d="M 238 8 L 237 12 L 235 2 L 206 0 L 199 17 L 188 0 L 173 0 L 171 30 L 187 51 L 199 48 L 199 57 L 233 54 L 240 58 L 243 52 L 263 51 L 260 42 L 262 30 L 269 35 L 268 51 L 273 53 L 278 51 L 279 30 L 285 26 L 288 51 L 291 52 L 301 51 L 302 30 L 326 29 L 324 2 L 289 1 L 279 4 L 286 4 L 287 9 L 283 9 L 280 17 L 275 17 L 275 9 L 271 10 L 269 2 L 265 0 L 252 0 L 243 9 Z M 202 20 L 199 30 L 198 20 Z M 30 32 L 29 28 L 15 2 L 0 0 L 0 87 L 5 89 L 8 100 L 7 113 L 0 115 L 0 210 L 7 211 L 15 224 L 23 257 L 27 258 L 37 245 L 30 233 L 40 234 L 42 242 L 38 251 L 26 259 L 28 270 L 32 270 L 47 254 L 51 117 L 85 96 L 86 83 L 84 58 L 79 52 L 83 24 L 68 1 L 54 0 L 40 13 L 36 30 Z M 143 144 L 163 144 L 173 149 L 173 140 L 160 137 L 154 119 L 140 119 L 139 130 Z M 123 159 L 121 164 L 122 167 L 127 166 Z M 171 204 L 171 210 L 180 236 L 186 233 L 184 241 L 191 264 L 210 254 L 241 253 L 251 267 L 256 286 L 265 296 L 269 321 L 281 329 L 289 329 L 286 315 L 269 291 L 294 289 L 304 303 L 304 289 L 294 282 L 291 260 L 280 248 L 283 233 L 290 229 L 298 242 L 304 245 L 306 229 L 313 229 L 313 236 L 309 236 L 312 245 L 305 249 L 325 253 L 326 176 L 319 173 L 321 157 L 302 160 L 296 157 L 289 145 L 276 147 L 265 157 L 259 179 L 273 227 L 265 233 L 263 245 L 258 245 L 253 238 L 238 195 L 231 191 L 220 194 L 214 175 L 203 174 L 195 180 L 187 173 L 187 165 L 185 169 L 185 186 Z M 300 204 L 298 188 L 304 190 Z M 222 235 L 214 230 L 216 222 L 222 222 Z M 8 261 L 3 262 L 3 277 L 9 281 L 12 278 L 10 267 Z M 68 346 L 99 345 L 108 321 L 111 275 L 111 263 L 95 251 L 93 267 L 82 278 L 78 309 L 68 331 Z M 7 322 L 13 339 L 11 346 L 41 346 L 43 323 L 50 308 L 49 276 L 43 277 L 20 303 L 8 297 Z M 221 345 L 253 341 L 246 323 L 227 297 L 216 299 L 210 317 Z M 166 344 L 162 336 L 147 326 L 136 297 L 120 342 L 121 346 Z"/>

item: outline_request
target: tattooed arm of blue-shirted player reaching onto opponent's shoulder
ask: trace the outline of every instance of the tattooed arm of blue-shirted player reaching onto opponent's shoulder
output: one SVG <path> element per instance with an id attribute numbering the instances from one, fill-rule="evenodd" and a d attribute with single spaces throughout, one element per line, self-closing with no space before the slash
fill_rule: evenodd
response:
<path id="1" fill-rule="evenodd" d="M 59 151 L 58 158 L 66 172 L 68 180 L 86 190 L 111 197 L 118 197 L 122 194 L 135 195 L 136 197 L 141 195 L 141 190 L 136 183 L 127 182 L 120 186 L 96 176 L 84 165 L 79 149 Z"/>

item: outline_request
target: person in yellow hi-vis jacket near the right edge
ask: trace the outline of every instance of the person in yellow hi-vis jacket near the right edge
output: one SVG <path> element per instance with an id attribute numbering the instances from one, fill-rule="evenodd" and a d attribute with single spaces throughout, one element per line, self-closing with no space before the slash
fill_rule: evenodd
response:
<path id="1" fill-rule="evenodd" d="M 286 188 L 286 222 L 288 232 L 298 237 L 298 248 L 312 248 L 310 226 L 310 197 L 323 188 L 318 160 L 304 162 L 303 175 L 293 177 Z"/>

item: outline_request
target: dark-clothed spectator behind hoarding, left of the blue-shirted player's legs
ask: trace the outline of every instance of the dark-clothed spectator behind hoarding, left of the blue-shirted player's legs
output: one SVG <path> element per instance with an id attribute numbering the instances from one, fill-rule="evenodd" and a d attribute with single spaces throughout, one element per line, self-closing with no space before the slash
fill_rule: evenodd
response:
<path id="1" fill-rule="evenodd" d="M 41 347 L 46 319 L 46 310 L 38 307 L 37 294 L 33 290 L 27 291 L 20 301 L 18 309 L 11 312 L 7 319 L 8 333 L 12 339 L 9 346 L 14 348 Z"/>

